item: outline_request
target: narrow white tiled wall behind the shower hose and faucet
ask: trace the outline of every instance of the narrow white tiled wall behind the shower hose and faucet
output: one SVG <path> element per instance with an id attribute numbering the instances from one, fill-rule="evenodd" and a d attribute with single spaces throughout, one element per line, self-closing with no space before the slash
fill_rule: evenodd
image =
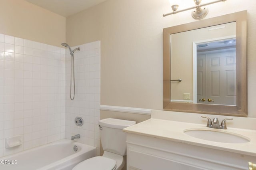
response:
<path id="1" fill-rule="evenodd" d="M 76 95 L 70 100 L 71 56 L 66 49 L 66 138 L 80 134 L 78 142 L 97 147 L 100 154 L 100 41 L 72 47 L 74 53 Z M 82 117 L 84 125 L 78 127 L 75 117 Z"/>

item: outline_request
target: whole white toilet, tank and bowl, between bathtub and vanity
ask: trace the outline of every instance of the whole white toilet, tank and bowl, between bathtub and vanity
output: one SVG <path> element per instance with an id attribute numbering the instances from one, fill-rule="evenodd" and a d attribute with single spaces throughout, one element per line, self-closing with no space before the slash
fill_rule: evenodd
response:
<path id="1" fill-rule="evenodd" d="M 96 156 L 77 164 L 72 170 L 122 170 L 126 155 L 126 133 L 123 128 L 136 124 L 135 121 L 102 119 L 99 121 L 103 156 Z"/>

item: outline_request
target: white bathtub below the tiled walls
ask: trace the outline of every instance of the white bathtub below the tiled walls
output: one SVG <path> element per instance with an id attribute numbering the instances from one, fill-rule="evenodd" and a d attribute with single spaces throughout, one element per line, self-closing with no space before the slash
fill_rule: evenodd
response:
<path id="1" fill-rule="evenodd" d="M 96 156 L 96 150 L 93 146 L 62 139 L 2 157 L 0 170 L 71 170 L 79 162 Z"/>

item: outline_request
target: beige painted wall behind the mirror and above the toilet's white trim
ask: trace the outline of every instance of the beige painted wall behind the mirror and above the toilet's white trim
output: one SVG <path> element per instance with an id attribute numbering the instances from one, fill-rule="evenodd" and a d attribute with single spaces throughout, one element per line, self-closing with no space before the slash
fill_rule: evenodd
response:
<path id="1" fill-rule="evenodd" d="M 248 10 L 248 112 L 256 117 L 256 2 L 209 7 L 206 18 Z M 170 10 L 168 0 L 107 0 L 66 19 L 70 45 L 101 40 L 102 105 L 162 109 L 162 29 L 195 21 L 191 11 L 162 17 Z"/>

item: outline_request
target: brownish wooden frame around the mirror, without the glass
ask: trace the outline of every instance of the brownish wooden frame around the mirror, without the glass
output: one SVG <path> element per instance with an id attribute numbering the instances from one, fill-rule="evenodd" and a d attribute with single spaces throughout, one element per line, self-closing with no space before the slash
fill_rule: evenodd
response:
<path id="1" fill-rule="evenodd" d="M 236 106 L 170 102 L 170 34 L 236 22 Z M 163 108 L 167 111 L 247 117 L 247 10 L 164 28 Z M 191 56 L 192 57 L 192 56 Z"/>

